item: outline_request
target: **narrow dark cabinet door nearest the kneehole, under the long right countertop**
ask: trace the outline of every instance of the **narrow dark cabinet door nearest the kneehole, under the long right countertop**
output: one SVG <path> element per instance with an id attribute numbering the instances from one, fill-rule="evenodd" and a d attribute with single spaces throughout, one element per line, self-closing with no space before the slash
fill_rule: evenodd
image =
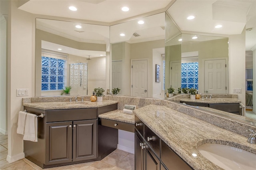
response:
<path id="1" fill-rule="evenodd" d="M 144 150 L 142 149 L 144 145 L 143 139 L 140 134 L 135 130 L 135 159 L 134 159 L 134 168 L 135 170 L 143 170 L 143 159 L 144 159 Z"/>

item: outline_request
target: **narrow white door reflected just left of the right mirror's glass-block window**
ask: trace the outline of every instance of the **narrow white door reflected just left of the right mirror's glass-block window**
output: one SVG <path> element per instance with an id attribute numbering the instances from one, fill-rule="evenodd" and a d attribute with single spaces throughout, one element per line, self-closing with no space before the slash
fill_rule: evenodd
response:
<path id="1" fill-rule="evenodd" d="M 181 62 L 172 62 L 170 65 L 171 65 L 170 85 L 172 86 L 172 88 L 178 90 L 178 88 L 181 86 Z"/>

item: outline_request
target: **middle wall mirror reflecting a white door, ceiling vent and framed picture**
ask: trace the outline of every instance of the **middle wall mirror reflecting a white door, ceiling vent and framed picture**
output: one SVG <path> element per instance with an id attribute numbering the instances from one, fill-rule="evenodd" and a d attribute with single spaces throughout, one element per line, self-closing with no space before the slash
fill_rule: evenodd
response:
<path id="1" fill-rule="evenodd" d="M 164 30 L 164 12 L 110 26 L 111 82 L 120 95 L 164 98 Z"/>

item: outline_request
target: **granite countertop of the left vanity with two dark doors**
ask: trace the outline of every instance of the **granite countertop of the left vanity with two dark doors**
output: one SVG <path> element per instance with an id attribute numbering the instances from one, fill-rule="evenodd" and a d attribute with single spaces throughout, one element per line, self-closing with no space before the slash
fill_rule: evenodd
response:
<path id="1" fill-rule="evenodd" d="M 33 107 L 36 109 L 43 110 L 56 110 L 56 109 L 82 109 L 82 108 L 97 108 L 107 105 L 118 103 L 118 101 L 104 100 L 102 102 L 91 102 L 91 101 L 78 101 L 78 102 L 34 102 L 34 103 L 23 103 L 23 106 Z"/>

